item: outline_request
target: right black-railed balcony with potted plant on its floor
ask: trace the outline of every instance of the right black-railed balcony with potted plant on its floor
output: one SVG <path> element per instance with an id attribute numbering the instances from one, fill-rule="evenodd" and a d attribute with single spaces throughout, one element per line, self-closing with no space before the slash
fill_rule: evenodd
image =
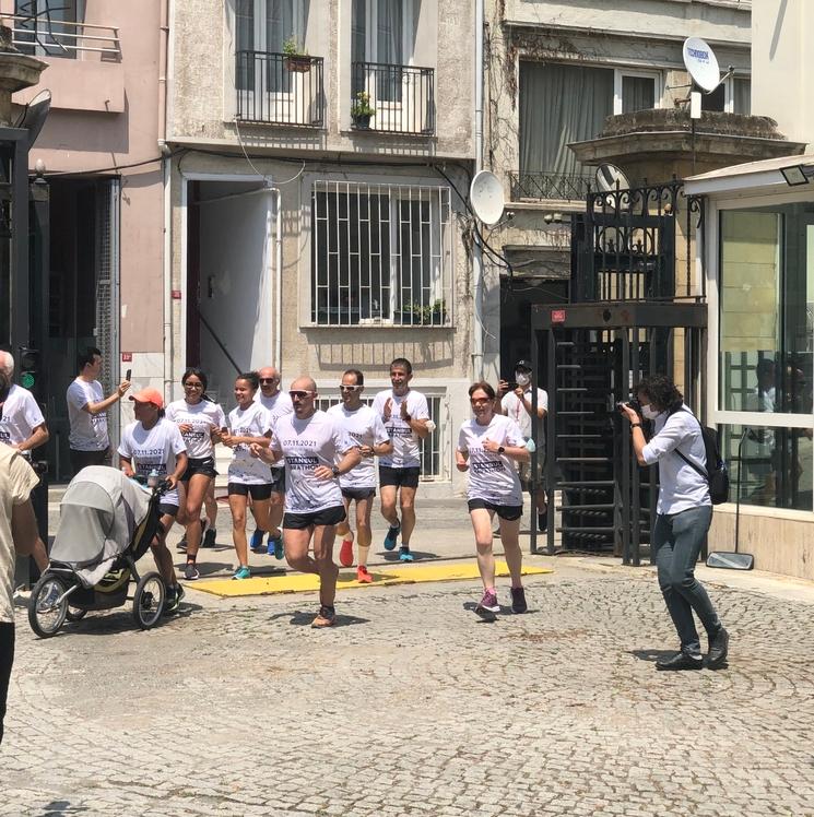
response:
<path id="1" fill-rule="evenodd" d="M 428 137 L 435 133 L 435 70 L 384 62 L 351 66 L 353 129 Z M 368 114 L 354 113 L 367 109 Z"/>

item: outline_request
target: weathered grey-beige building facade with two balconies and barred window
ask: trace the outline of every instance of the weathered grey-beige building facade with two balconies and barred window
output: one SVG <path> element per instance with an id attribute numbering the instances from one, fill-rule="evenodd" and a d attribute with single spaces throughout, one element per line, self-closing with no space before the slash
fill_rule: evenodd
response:
<path id="1" fill-rule="evenodd" d="M 437 424 L 424 478 L 451 488 L 474 32 L 463 0 L 173 4 L 168 394 L 200 365 L 231 407 L 236 374 L 274 364 L 325 404 L 359 368 L 371 398 L 403 356 Z"/>

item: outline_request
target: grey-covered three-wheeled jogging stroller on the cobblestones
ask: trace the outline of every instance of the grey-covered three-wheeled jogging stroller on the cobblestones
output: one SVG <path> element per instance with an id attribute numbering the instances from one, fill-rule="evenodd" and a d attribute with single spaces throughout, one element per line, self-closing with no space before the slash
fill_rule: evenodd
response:
<path id="1" fill-rule="evenodd" d="M 153 571 L 140 577 L 135 563 L 160 525 L 158 502 L 166 483 L 149 489 L 120 471 L 91 465 L 71 479 L 59 506 L 50 561 L 34 585 L 28 621 L 40 638 L 59 632 L 90 609 L 111 609 L 135 582 L 133 618 L 150 629 L 161 618 L 166 584 Z"/>

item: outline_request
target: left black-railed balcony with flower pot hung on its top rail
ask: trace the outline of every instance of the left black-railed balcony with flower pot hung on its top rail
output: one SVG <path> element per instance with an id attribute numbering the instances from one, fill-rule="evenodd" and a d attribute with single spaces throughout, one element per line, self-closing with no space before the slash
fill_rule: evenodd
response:
<path id="1" fill-rule="evenodd" d="M 321 128 L 322 57 L 267 51 L 236 54 L 237 118 L 241 122 Z"/>

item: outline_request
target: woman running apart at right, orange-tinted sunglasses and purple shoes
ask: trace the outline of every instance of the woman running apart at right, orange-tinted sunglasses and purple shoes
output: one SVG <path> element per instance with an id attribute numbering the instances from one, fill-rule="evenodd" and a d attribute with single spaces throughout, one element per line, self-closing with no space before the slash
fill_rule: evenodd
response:
<path id="1" fill-rule="evenodd" d="M 522 552 L 518 542 L 523 495 L 516 462 L 528 462 L 520 428 L 514 419 L 495 414 L 495 390 L 486 382 L 469 388 L 474 417 L 461 425 L 456 450 L 459 471 L 469 471 L 469 516 L 475 533 L 477 569 L 483 581 L 483 597 L 475 613 L 494 621 L 500 612 L 495 590 L 495 557 L 492 553 L 492 520 L 497 513 L 506 564 L 511 576 L 511 609 L 526 613 Z"/>

